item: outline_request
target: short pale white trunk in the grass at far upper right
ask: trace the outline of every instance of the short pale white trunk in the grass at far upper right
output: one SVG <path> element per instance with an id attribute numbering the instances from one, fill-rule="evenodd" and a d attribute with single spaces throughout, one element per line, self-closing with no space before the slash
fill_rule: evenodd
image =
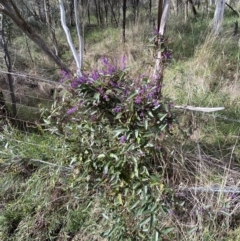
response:
<path id="1" fill-rule="evenodd" d="M 223 14 L 225 9 L 225 0 L 218 0 L 216 3 L 216 9 L 213 19 L 213 31 L 215 34 L 219 34 L 222 30 Z"/>

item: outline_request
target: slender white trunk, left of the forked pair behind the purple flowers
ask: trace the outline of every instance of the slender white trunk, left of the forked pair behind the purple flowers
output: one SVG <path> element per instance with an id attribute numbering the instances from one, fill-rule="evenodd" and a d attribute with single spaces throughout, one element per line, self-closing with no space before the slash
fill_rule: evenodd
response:
<path id="1" fill-rule="evenodd" d="M 75 60 L 76 65 L 77 65 L 77 76 L 82 76 L 81 58 L 80 58 L 80 55 L 77 53 L 77 50 L 76 50 L 76 48 L 75 48 L 75 46 L 73 44 L 73 41 L 72 41 L 71 33 L 69 31 L 69 28 L 66 25 L 65 9 L 64 9 L 64 5 L 63 5 L 63 0 L 59 0 L 59 5 L 60 5 L 60 12 L 61 12 L 61 24 L 62 24 L 63 30 L 64 30 L 64 32 L 66 34 L 69 47 L 70 47 L 70 49 L 72 51 L 74 60 Z M 76 19 L 76 21 L 77 21 L 77 19 Z M 79 52 L 81 52 L 81 50 Z"/>

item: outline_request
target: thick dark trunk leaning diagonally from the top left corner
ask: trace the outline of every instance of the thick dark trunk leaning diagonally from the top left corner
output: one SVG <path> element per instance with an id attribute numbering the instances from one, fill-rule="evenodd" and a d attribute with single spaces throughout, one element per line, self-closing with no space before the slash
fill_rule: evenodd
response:
<path id="1" fill-rule="evenodd" d="M 13 0 L 8 2 L 0 0 L 0 11 L 6 14 L 12 21 L 35 43 L 38 47 L 48 55 L 62 70 L 71 73 L 69 68 L 62 62 L 62 60 L 55 55 L 51 49 L 46 45 L 43 39 L 26 23 L 18 7 Z"/>

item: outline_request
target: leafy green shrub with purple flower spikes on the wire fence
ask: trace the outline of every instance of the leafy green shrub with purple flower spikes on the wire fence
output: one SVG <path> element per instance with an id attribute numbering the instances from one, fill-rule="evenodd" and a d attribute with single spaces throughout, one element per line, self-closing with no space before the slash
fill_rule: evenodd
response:
<path id="1" fill-rule="evenodd" d="M 148 237 L 158 236 L 158 218 L 169 209 L 163 188 L 160 196 L 152 194 L 159 193 L 172 104 L 157 80 L 143 75 L 131 80 L 124 59 L 121 67 L 106 58 L 102 62 L 102 70 L 81 77 L 63 73 L 61 81 L 70 88 L 46 122 L 69 143 L 68 164 L 76 175 L 87 170 L 88 188 L 112 203 L 103 212 L 110 223 L 103 236 L 143 237 L 146 229 L 152 232 Z"/>

